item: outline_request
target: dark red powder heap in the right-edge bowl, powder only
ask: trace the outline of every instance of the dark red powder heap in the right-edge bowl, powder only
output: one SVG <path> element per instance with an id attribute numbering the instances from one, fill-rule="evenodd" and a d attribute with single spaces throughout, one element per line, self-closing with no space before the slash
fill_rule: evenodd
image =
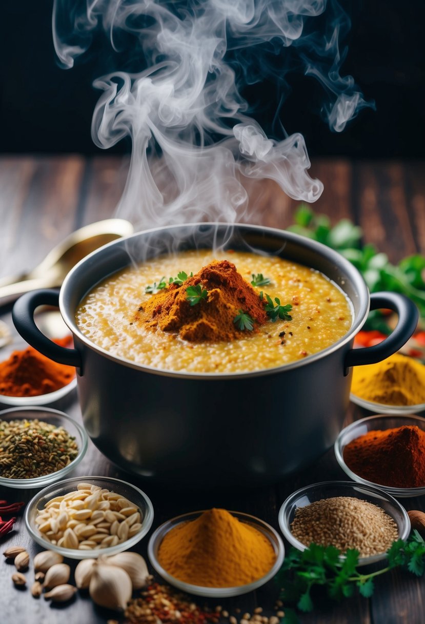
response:
<path id="1" fill-rule="evenodd" d="M 373 483 L 425 485 L 425 432 L 419 427 L 369 431 L 347 444 L 343 456 L 350 470 Z"/>

